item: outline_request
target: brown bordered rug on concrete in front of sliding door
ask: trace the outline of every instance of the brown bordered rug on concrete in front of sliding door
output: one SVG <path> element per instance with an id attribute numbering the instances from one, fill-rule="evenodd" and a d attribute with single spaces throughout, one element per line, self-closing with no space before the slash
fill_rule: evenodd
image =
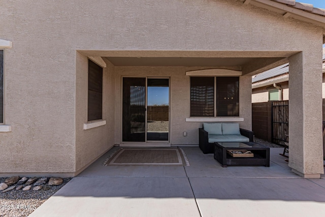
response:
<path id="1" fill-rule="evenodd" d="M 119 148 L 104 166 L 189 166 L 181 148 Z"/>

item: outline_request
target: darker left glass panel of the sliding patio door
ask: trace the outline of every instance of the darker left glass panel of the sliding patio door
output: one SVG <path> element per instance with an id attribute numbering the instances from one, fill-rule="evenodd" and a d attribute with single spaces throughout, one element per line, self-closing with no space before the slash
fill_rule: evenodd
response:
<path id="1" fill-rule="evenodd" d="M 123 78 L 122 141 L 145 142 L 146 78 Z"/>

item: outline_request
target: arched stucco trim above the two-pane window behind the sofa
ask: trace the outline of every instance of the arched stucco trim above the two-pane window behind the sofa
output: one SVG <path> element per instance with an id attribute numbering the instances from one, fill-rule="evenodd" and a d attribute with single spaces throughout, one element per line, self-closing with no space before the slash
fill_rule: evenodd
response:
<path id="1" fill-rule="evenodd" d="M 241 76 L 243 73 L 242 71 L 235 71 L 230 69 L 203 69 L 203 70 L 194 70 L 194 71 L 187 71 L 187 76 Z"/>

